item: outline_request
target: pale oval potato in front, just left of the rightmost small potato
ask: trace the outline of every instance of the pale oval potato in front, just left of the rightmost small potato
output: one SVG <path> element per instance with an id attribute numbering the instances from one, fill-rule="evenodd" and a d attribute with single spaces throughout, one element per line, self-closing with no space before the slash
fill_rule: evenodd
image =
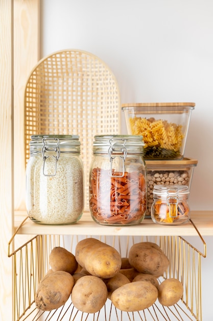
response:
<path id="1" fill-rule="evenodd" d="M 111 295 L 111 302 L 117 309 L 134 312 L 152 306 L 157 296 L 158 291 L 154 285 L 148 281 L 137 281 L 114 290 Z"/>

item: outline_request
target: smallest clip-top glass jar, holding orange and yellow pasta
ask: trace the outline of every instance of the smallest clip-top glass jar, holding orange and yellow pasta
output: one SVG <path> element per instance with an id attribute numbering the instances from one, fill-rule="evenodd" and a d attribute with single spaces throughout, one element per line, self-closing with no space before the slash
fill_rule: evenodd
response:
<path id="1" fill-rule="evenodd" d="M 186 185 L 155 185 L 151 217 L 154 223 L 180 225 L 190 219 L 189 190 Z"/>

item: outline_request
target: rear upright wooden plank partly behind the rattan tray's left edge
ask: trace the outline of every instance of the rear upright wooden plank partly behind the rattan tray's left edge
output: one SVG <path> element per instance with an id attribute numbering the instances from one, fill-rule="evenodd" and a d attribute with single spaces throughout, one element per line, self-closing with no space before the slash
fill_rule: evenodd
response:
<path id="1" fill-rule="evenodd" d="M 14 2 L 14 207 L 25 205 L 24 93 L 39 60 L 40 0 Z"/>

